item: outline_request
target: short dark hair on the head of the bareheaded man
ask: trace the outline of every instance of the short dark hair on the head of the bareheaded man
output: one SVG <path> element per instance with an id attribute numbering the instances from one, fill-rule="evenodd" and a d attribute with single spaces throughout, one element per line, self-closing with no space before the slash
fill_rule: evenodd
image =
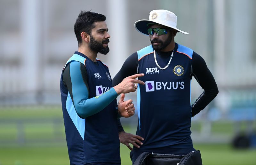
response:
<path id="1" fill-rule="evenodd" d="M 82 37 L 81 37 L 82 32 L 85 32 L 91 35 L 92 29 L 95 28 L 94 22 L 105 21 L 105 20 L 106 20 L 105 15 L 91 12 L 91 11 L 81 11 L 75 23 L 75 34 L 76 34 L 78 45 L 82 43 Z"/>

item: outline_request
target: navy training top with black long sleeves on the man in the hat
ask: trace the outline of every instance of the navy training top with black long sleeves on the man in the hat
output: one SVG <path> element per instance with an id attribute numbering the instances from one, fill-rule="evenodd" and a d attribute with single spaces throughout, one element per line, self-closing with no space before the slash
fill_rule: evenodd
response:
<path id="1" fill-rule="evenodd" d="M 191 148 L 191 116 L 212 101 L 218 93 L 217 85 L 204 59 L 193 50 L 175 43 L 172 61 L 165 70 L 157 67 L 153 51 L 150 45 L 133 53 L 113 79 L 113 85 L 134 73 L 145 74 L 139 78 L 145 85 L 139 85 L 137 89 L 139 122 L 136 135 L 144 138 L 140 150 Z M 159 55 L 156 52 L 160 67 L 167 65 L 171 53 Z M 204 92 L 191 106 L 192 76 Z M 123 131 L 121 124 L 119 131 Z"/>

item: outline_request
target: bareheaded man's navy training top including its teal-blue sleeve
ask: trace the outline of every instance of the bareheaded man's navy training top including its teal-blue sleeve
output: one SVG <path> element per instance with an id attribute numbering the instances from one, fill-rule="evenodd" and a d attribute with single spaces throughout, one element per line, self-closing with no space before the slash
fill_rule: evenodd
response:
<path id="1" fill-rule="evenodd" d="M 121 163 L 117 93 L 108 67 L 75 52 L 63 69 L 60 91 L 70 164 Z"/>

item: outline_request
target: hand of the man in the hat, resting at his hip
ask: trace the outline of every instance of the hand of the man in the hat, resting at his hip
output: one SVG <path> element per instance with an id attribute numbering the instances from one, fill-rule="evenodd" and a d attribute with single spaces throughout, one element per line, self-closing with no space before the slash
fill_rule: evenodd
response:
<path id="1" fill-rule="evenodd" d="M 143 145 L 143 143 L 140 140 L 144 140 L 144 138 L 140 137 L 139 135 L 133 135 L 131 133 L 126 133 L 124 131 L 119 132 L 118 134 L 120 143 L 126 145 L 130 150 L 132 150 L 132 147 L 129 145 L 129 143 L 137 148 L 140 148 L 140 145 Z"/>

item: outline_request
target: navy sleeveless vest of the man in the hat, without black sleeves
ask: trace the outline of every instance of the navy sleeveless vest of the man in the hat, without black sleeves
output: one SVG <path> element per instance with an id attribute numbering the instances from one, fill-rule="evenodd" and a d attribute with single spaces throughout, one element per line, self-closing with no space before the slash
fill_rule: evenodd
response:
<path id="1" fill-rule="evenodd" d="M 178 44 L 165 70 L 157 67 L 151 45 L 137 53 L 138 73 L 145 74 L 139 78 L 145 85 L 137 89 L 139 123 L 136 134 L 145 139 L 140 149 L 193 147 L 190 137 L 193 50 Z M 165 67 L 169 59 L 156 53 L 160 67 Z"/>

